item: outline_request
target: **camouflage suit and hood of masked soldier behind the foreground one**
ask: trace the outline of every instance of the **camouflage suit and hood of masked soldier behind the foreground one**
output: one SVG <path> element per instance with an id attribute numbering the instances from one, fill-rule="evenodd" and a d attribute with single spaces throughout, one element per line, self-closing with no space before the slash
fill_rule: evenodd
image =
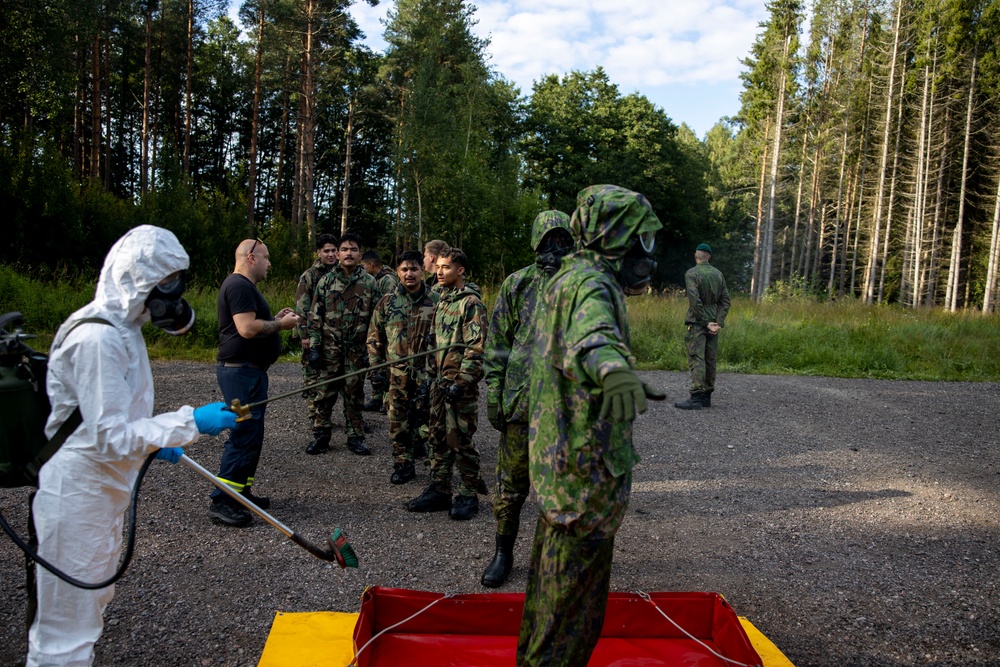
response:
<path id="1" fill-rule="evenodd" d="M 553 229 L 569 231 L 569 216 L 543 211 L 531 230 L 537 251 Z M 528 376 L 534 352 L 536 296 L 550 274 L 532 264 L 507 276 L 500 286 L 490 318 L 483 371 L 486 400 L 500 405 L 504 429 L 497 445 L 496 492 L 493 516 L 498 535 L 517 535 L 521 507 L 528 497 Z"/>

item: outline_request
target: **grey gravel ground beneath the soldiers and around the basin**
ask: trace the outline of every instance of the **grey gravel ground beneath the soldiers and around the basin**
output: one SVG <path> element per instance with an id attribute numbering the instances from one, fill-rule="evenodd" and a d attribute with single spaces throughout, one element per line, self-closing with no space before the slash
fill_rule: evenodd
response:
<path id="1" fill-rule="evenodd" d="M 220 400 L 209 365 L 153 372 L 158 410 Z M 670 401 L 686 394 L 683 374 L 643 375 Z M 272 395 L 299 386 L 297 365 L 272 369 Z M 614 590 L 718 591 L 798 667 L 1000 666 L 1000 385 L 726 374 L 719 386 L 710 410 L 657 403 L 636 422 L 643 460 Z M 481 407 L 476 442 L 491 479 L 496 433 Z M 390 485 L 387 420 L 368 421 L 374 456 L 352 455 L 342 435 L 306 456 L 303 401 L 276 402 L 254 489 L 317 543 L 343 528 L 358 570 L 314 559 L 260 520 L 213 524 L 206 482 L 182 465 L 153 466 L 97 664 L 254 665 L 276 610 L 356 611 L 369 585 L 485 591 L 489 504 L 465 523 L 408 513 L 426 469 Z M 214 471 L 221 444 L 205 438 L 188 453 Z M 26 498 L 0 489 L 17 526 Z M 524 590 L 534 520 L 529 502 L 503 590 Z M 21 562 L 0 539 L 3 665 L 25 650 Z"/>

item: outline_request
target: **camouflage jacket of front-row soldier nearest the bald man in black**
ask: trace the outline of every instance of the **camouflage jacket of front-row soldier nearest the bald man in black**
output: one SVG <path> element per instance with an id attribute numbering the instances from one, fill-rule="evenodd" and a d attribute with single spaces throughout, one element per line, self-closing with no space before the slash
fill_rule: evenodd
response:
<path id="1" fill-rule="evenodd" d="M 331 371 L 343 368 L 338 360 L 352 367 L 367 363 L 365 337 L 374 296 L 375 279 L 361 266 L 350 275 L 338 268 L 320 279 L 309 317 L 309 341 L 311 346 L 322 346 Z"/>

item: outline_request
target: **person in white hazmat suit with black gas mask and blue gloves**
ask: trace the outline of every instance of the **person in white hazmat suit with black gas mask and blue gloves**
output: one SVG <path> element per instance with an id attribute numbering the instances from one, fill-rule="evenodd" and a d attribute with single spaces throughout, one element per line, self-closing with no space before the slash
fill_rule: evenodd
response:
<path id="1" fill-rule="evenodd" d="M 122 548 L 123 514 L 149 454 L 176 463 L 179 446 L 235 426 L 223 403 L 153 415 L 153 375 L 142 337 L 152 321 L 186 333 L 194 312 L 180 298 L 188 255 L 173 233 L 143 225 L 111 247 L 94 300 L 56 332 L 47 390 L 52 437 L 77 406 L 83 423 L 39 472 L 32 510 L 38 553 L 76 579 L 104 581 Z M 101 318 L 108 324 L 83 323 Z M 91 665 L 114 586 L 85 590 L 38 568 L 29 667 Z"/>

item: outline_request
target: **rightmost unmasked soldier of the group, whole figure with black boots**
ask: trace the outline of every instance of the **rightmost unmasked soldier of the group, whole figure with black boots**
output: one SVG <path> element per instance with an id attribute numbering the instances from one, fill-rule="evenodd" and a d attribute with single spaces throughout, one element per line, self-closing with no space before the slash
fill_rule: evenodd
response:
<path id="1" fill-rule="evenodd" d="M 458 248 L 438 256 L 441 301 L 434 312 L 434 347 L 461 344 L 432 356 L 430 445 L 431 484 L 407 505 L 411 512 L 449 510 L 452 519 L 471 519 L 479 511 L 477 494 L 486 493 L 479 476 L 476 432 L 479 381 L 483 377 L 486 307 L 479 292 L 463 279 L 468 260 Z M 462 483 L 451 498 L 453 468 Z"/>

